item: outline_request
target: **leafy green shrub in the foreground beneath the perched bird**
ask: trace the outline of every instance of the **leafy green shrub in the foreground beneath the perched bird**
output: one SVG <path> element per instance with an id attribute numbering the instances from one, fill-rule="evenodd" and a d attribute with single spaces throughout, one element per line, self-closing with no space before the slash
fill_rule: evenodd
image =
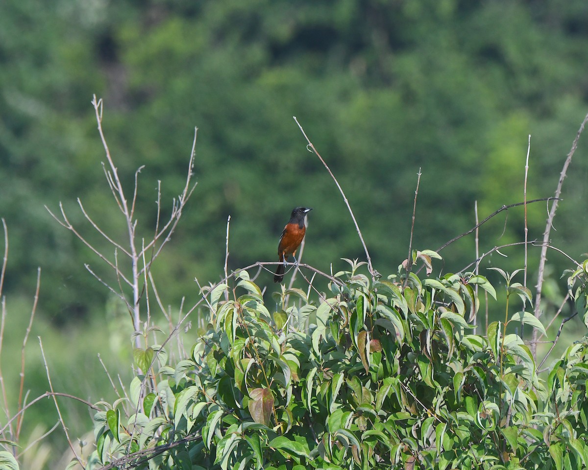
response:
<path id="1" fill-rule="evenodd" d="M 546 383 L 507 331 L 520 321 L 544 331 L 533 315 L 507 311 L 505 323 L 472 333 L 475 286 L 496 298 L 485 277 L 421 279 L 400 267 L 372 282 L 362 264 L 336 274 L 318 303 L 283 288 L 273 314 L 246 271 L 235 290 L 212 288 L 209 330 L 191 357 L 168 364 L 163 348 L 138 351 L 149 374 L 133 379 L 129 400 L 96 413 L 88 468 L 586 466 L 586 340 Z M 584 265 L 570 291 L 586 276 Z M 505 277 L 506 296 L 529 301 Z M 573 292 L 582 311 L 584 289 Z"/>

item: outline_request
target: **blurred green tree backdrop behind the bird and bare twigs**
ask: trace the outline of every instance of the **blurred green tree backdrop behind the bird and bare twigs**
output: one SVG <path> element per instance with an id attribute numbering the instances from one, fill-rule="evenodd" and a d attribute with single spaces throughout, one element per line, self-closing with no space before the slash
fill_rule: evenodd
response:
<path id="1" fill-rule="evenodd" d="M 343 266 L 341 257 L 363 256 L 342 199 L 306 152 L 293 115 L 345 188 L 380 271 L 407 255 L 420 167 L 416 247 L 435 249 L 473 226 L 475 200 L 480 218 L 522 201 L 529 134 L 527 197 L 551 196 L 586 114 L 587 51 L 582 0 L 8 0 L 0 15 L 5 293 L 31 297 L 41 266 L 34 334 L 55 335 L 56 348 L 68 338 L 75 354 L 67 355 L 84 367 L 93 367 L 97 350 L 113 351 L 111 364 L 128 360 L 126 337 L 119 337 L 131 332 L 117 323 L 124 313 L 116 314 L 106 289 L 83 269 L 90 263 L 102 274 L 99 261 L 43 207 L 55 210 L 62 201 L 72 223 L 105 251 L 76 197 L 113 236 L 125 233 L 104 190 L 92 93 L 104 99 L 105 132 L 126 182 L 145 164 L 138 219 L 146 237 L 155 225 L 157 180 L 163 200 L 180 192 L 199 127 L 199 184 L 154 267 L 164 303 L 177 308 L 182 296 L 197 300 L 194 277 L 219 279 L 229 215 L 232 268 L 273 260 L 280 229 L 299 204 L 315 209 L 306 261 L 329 271 L 330 263 Z M 556 218 L 560 230 L 552 232 L 573 257 L 586 251 L 585 152 L 580 140 Z M 506 229 L 503 218 L 487 224 L 481 250 L 522 240 L 515 218 Z M 530 239 L 545 219 L 543 204 L 529 207 Z M 512 254 L 506 268 L 522 266 L 520 250 L 505 253 Z M 549 256 L 555 276 L 569 266 Z M 443 257 L 446 271 L 459 271 L 475 257 L 473 239 Z M 265 276 L 260 284 L 270 283 Z M 20 298 L 11 306 L 18 318 L 10 325 L 19 325 L 11 331 L 22 331 L 28 307 Z M 93 348 L 86 328 L 109 339 L 91 335 L 102 346 Z M 16 351 L 21 337 L 8 341 Z M 41 394 L 43 370 L 31 354 L 39 373 L 27 385 Z M 71 373 L 68 359 L 52 365 Z M 16 354 L 14 371 L 18 361 Z M 107 393 L 92 383 L 103 382 L 95 376 L 83 390 L 88 396 Z"/>

